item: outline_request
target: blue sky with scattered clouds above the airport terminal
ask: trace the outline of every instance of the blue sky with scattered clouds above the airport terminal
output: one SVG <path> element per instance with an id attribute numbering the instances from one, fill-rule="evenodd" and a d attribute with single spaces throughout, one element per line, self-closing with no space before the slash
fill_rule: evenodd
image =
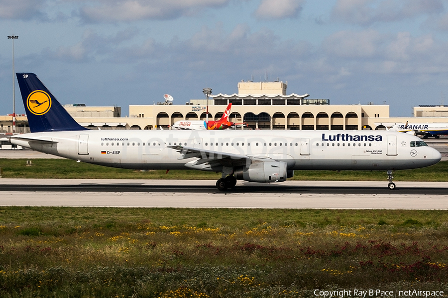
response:
<path id="1" fill-rule="evenodd" d="M 332 104 L 448 104 L 443 0 L 0 0 L 0 115 L 15 71 L 62 104 L 175 104 L 237 83 L 288 81 Z M 16 85 L 17 86 L 17 85 Z M 16 112 L 23 113 L 18 87 Z"/>

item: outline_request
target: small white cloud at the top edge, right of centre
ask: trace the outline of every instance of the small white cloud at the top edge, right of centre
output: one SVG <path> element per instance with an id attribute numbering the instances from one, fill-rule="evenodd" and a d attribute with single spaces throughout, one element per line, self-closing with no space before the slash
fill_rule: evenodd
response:
<path id="1" fill-rule="evenodd" d="M 262 0 L 255 11 L 259 19 L 282 19 L 297 17 L 305 0 Z"/>

